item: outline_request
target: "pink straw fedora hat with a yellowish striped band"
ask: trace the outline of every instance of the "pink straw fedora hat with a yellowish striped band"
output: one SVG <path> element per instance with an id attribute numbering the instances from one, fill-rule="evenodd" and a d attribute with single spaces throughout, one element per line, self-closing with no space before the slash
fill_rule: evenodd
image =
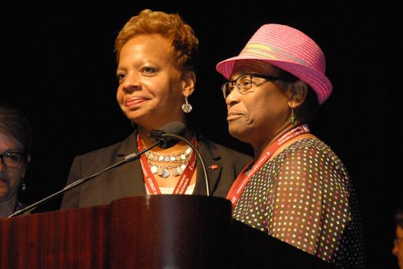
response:
<path id="1" fill-rule="evenodd" d="M 256 31 L 240 55 L 217 64 L 225 78 L 231 76 L 239 60 L 262 60 L 292 73 L 310 85 L 322 104 L 332 91 L 330 80 L 324 76 L 326 60 L 318 44 L 308 35 L 281 24 L 265 24 Z"/>

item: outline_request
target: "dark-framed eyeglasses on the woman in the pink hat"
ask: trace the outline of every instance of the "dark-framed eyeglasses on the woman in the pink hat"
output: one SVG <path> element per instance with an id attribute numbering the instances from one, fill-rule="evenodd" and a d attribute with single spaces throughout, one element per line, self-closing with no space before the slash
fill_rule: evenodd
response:
<path id="1" fill-rule="evenodd" d="M 252 89 L 253 85 L 262 85 L 265 83 L 265 80 L 261 80 L 259 78 L 264 78 L 265 80 L 281 80 L 281 78 L 277 76 L 266 76 L 266 75 L 260 75 L 257 73 L 247 73 L 245 75 L 239 76 L 235 80 L 229 81 L 228 83 L 224 83 L 221 87 L 222 89 L 222 94 L 224 95 L 224 99 L 227 99 L 229 94 L 235 89 L 235 87 L 238 89 L 238 92 L 240 94 L 244 94 L 245 92 L 249 91 L 249 89 Z"/>

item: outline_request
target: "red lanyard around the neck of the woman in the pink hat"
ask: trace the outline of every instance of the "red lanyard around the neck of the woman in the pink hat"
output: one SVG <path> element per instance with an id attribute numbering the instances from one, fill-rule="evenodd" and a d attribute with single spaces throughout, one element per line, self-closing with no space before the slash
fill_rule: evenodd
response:
<path id="1" fill-rule="evenodd" d="M 294 137 L 297 137 L 301 134 L 306 134 L 307 132 L 309 132 L 308 125 L 299 125 L 295 127 L 293 130 L 290 130 L 290 132 L 283 134 L 279 139 L 277 139 L 277 141 L 274 142 L 268 148 L 268 150 L 266 150 L 265 154 L 260 157 L 253 166 L 253 161 L 251 161 L 245 168 L 243 168 L 242 172 L 238 175 L 235 182 L 233 182 L 231 189 L 229 190 L 229 193 L 227 195 L 227 199 L 231 201 L 233 208 L 235 207 L 236 202 L 238 202 L 243 189 L 245 189 L 245 186 L 249 183 L 252 176 L 261 168 L 261 166 L 263 166 L 263 164 L 268 161 L 268 159 L 270 159 L 270 157 L 272 157 L 273 153 L 278 150 L 281 145 L 283 145 L 287 141 L 290 141 L 290 139 L 293 139 Z M 250 166 L 252 166 L 252 168 L 250 169 L 249 173 L 246 174 L 246 171 Z"/>

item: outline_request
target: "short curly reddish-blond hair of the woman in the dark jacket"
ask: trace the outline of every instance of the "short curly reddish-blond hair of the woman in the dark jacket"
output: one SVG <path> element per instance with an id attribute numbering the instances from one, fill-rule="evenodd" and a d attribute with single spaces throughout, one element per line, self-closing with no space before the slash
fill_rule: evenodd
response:
<path id="1" fill-rule="evenodd" d="M 183 73 L 194 71 L 199 40 L 193 29 L 178 14 L 161 11 L 142 10 L 124 24 L 115 40 L 117 62 L 122 47 L 137 35 L 159 34 L 167 38 L 174 49 L 177 67 Z"/>

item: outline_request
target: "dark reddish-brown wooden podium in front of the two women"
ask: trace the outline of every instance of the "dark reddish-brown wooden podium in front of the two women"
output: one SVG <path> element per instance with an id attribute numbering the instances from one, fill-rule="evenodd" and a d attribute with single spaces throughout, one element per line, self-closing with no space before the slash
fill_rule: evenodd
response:
<path id="1" fill-rule="evenodd" d="M 0 268 L 334 268 L 231 219 L 205 196 L 136 196 L 110 205 L 0 219 Z"/>

